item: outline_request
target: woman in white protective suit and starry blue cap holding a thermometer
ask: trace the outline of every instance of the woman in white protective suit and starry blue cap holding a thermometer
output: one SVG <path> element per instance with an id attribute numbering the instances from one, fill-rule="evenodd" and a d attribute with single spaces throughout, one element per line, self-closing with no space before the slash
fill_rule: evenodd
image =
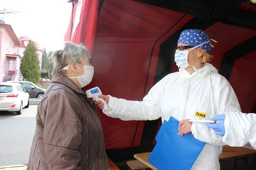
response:
<path id="1" fill-rule="evenodd" d="M 207 63 L 213 57 L 210 51 L 211 42 L 204 31 L 181 32 L 175 52 L 179 72 L 168 74 L 156 83 L 143 101 L 100 95 L 109 107 L 104 113 L 122 120 L 162 117 L 162 121 L 168 121 L 170 116 L 182 120 L 177 135 L 192 131 L 196 139 L 207 143 L 191 169 L 220 169 L 219 155 L 225 145 L 221 136 L 203 123 L 188 122 L 188 119 L 211 119 L 219 113 L 240 111 L 236 94 L 227 79 Z M 100 100 L 95 103 L 100 109 L 104 106 Z"/>

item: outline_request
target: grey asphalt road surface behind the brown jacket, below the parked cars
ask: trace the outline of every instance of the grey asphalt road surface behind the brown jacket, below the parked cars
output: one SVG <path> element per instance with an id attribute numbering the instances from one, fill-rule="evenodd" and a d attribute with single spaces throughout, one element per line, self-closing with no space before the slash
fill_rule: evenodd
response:
<path id="1" fill-rule="evenodd" d="M 36 108 L 30 105 L 21 115 L 0 112 L 0 166 L 27 164 L 36 130 Z"/>

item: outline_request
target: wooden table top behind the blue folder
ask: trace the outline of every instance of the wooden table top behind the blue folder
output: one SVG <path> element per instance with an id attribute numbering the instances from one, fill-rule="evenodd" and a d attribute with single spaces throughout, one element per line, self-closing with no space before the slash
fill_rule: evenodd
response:
<path id="1" fill-rule="evenodd" d="M 151 152 L 134 154 L 134 158 L 138 159 L 143 164 L 147 165 L 153 170 L 157 170 L 155 166 L 148 162 L 148 157 Z M 256 150 L 245 148 L 245 147 L 231 147 L 225 145 L 222 149 L 222 153 L 219 156 L 219 160 L 235 159 L 249 155 L 255 155 Z"/>

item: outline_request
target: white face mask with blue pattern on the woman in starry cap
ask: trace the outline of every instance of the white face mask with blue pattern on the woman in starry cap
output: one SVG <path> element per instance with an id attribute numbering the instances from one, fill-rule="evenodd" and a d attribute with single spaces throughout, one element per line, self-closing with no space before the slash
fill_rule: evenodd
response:
<path id="1" fill-rule="evenodd" d="M 180 51 L 180 50 L 176 50 L 175 51 L 175 55 L 174 55 L 174 61 L 176 62 L 176 65 L 179 67 L 179 68 L 186 68 L 188 66 L 191 66 L 188 64 L 188 53 L 190 50 L 193 50 L 199 46 L 202 46 L 203 44 L 205 43 L 208 43 L 210 41 L 206 41 L 202 44 L 199 44 L 189 50 L 183 50 L 183 51 Z M 193 69 L 196 71 L 196 68 L 194 66 L 192 66 Z"/>

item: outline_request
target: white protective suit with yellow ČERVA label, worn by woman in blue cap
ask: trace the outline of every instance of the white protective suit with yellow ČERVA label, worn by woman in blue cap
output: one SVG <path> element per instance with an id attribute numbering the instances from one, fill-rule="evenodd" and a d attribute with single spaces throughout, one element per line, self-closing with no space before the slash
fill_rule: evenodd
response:
<path id="1" fill-rule="evenodd" d="M 170 116 L 180 121 L 204 120 L 196 117 L 196 112 L 205 113 L 205 119 L 210 120 L 217 114 L 241 110 L 227 79 L 208 63 L 193 74 L 180 68 L 179 72 L 166 75 L 141 102 L 110 96 L 108 107 L 109 110 L 103 112 L 110 117 L 122 120 L 154 120 L 162 117 L 162 121 L 168 121 Z M 219 155 L 225 145 L 222 137 L 204 123 L 193 123 L 191 130 L 196 139 L 207 143 L 191 169 L 220 169 Z"/>

